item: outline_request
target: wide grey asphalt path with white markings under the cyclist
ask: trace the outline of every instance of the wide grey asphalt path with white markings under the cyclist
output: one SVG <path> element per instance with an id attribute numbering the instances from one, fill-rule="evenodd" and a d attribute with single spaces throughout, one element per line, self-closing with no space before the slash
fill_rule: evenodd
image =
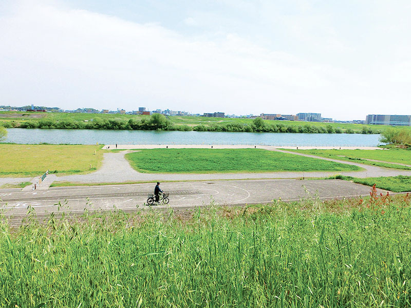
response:
<path id="1" fill-rule="evenodd" d="M 89 211 L 121 209 L 135 211 L 148 208 L 146 200 L 155 184 L 124 184 L 109 186 L 55 187 L 48 190 L 0 192 L 0 209 L 10 221 L 18 223 L 31 208 L 39 218 L 63 211 L 82 214 Z M 163 183 L 170 203 L 153 209 L 192 209 L 218 205 L 245 205 L 300 200 L 301 198 L 343 198 L 369 195 L 370 187 L 342 180 L 234 180 Z M 378 190 L 378 193 L 385 190 Z"/>

